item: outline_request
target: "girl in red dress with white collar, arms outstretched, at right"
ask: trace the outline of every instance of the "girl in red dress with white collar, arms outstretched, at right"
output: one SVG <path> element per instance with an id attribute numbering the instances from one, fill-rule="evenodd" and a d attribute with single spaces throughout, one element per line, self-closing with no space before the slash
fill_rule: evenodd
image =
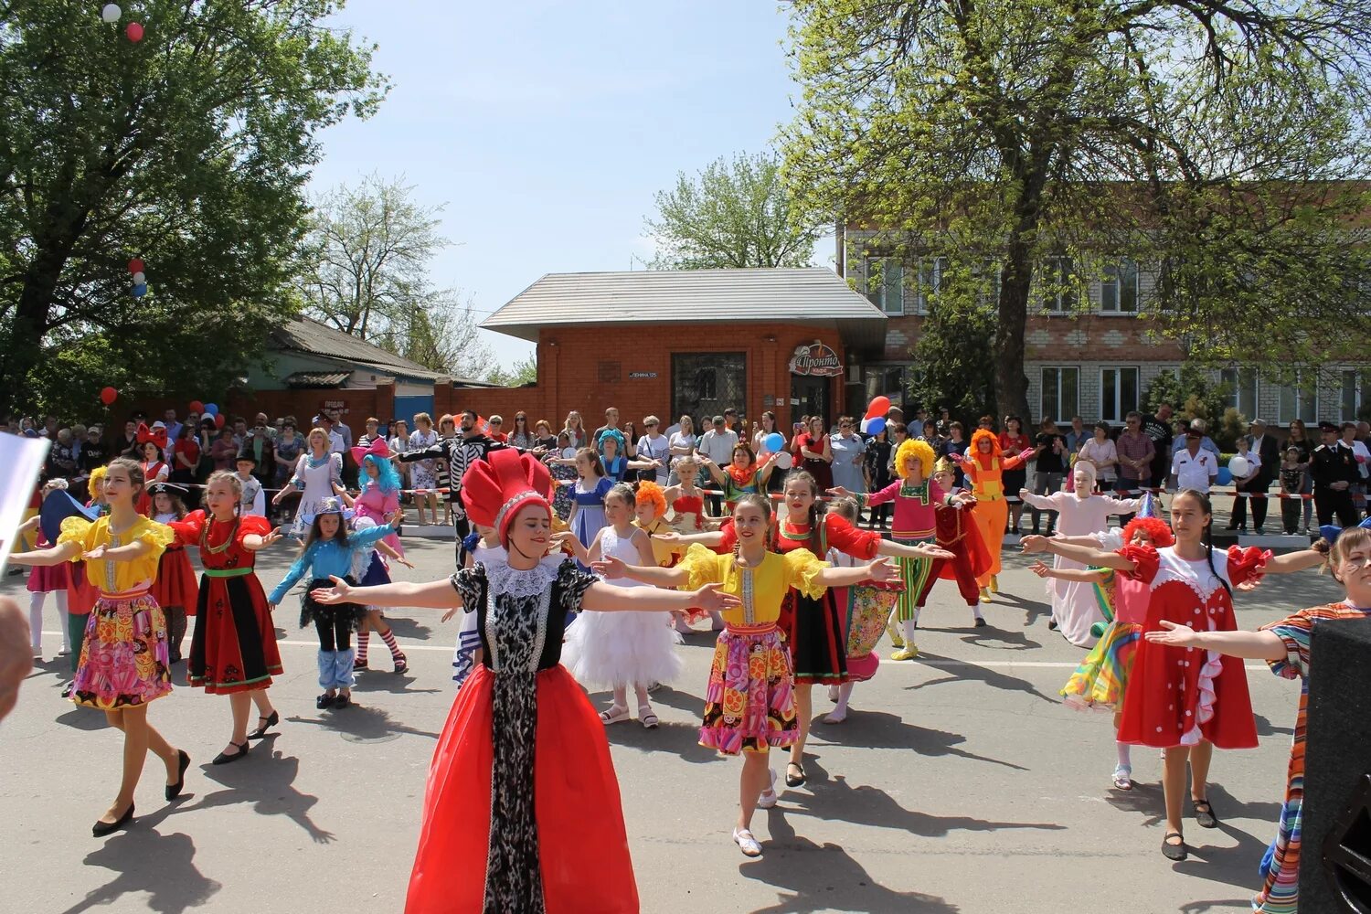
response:
<path id="1" fill-rule="evenodd" d="M 1161 549 L 1126 544 L 1117 552 L 1054 543 L 1052 551 L 1087 565 L 1115 569 L 1150 589 L 1148 632 L 1163 622 L 1179 622 L 1206 632 L 1231 632 L 1233 588 L 1250 588 L 1263 574 L 1298 571 L 1322 565 L 1313 549 L 1272 558 L 1270 551 L 1233 547 L 1213 555 L 1209 529 L 1213 515 L 1209 496 L 1183 489 L 1171 502 L 1171 529 L 1176 543 Z M 1024 543 L 1035 551 L 1043 540 Z M 1168 647 L 1143 640 L 1137 650 L 1124 691 L 1119 740 L 1164 748 L 1163 792 L 1167 800 L 1167 833 L 1161 852 L 1172 861 L 1186 858 L 1180 830 L 1186 765 L 1190 766 L 1190 798 L 1196 822 L 1217 828 L 1205 788 L 1213 748 L 1248 750 L 1257 744 L 1257 728 L 1248 697 L 1242 660 L 1217 651 Z"/>

